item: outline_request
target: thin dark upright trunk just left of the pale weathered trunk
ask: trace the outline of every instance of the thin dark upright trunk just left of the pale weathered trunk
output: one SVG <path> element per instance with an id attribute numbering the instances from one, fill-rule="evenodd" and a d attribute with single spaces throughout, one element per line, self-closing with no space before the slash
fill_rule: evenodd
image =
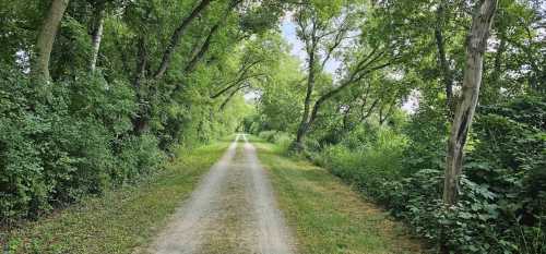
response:
<path id="1" fill-rule="evenodd" d="M 446 105 L 448 117 L 451 120 L 453 116 L 453 75 L 449 66 L 448 57 L 446 56 L 446 41 L 443 39 L 443 25 L 446 23 L 446 0 L 442 0 L 436 10 L 436 28 L 435 38 L 438 48 L 438 68 L 442 75 L 442 82 L 446 89 Z"/>

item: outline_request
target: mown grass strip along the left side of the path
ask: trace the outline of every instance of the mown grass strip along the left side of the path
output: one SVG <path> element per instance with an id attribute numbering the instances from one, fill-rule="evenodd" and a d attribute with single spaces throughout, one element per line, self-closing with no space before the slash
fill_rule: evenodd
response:
<path id="1" fill-rule="evenodd" d="M 164 171 L 134 186 L 108 191 L 38 221 L 0 232 L 12 253 L 134 253 L 146 246 L 199 179 L 219 159 L 226 140 L 180 150 Z M 0 250 L 1 251 L 1 250 Z"/>

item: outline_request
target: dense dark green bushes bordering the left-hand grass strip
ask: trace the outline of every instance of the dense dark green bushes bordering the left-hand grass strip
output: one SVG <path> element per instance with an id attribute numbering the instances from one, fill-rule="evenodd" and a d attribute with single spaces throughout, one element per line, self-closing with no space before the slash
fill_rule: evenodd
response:
<path id="1" fill-rule="evenodd" d="M 131 119 L 138 104 L 127 82 L 82 74 L 36 84 L 8 68 L 1 72 L 5 78 L 0 80 L 0 223 L 4 226 L 131 184 L 159 170 L 180 144 L 206 142 L 236 124 L 236 120 L 192 123 L 168 117 L 168 122 L 134 134 Z M 192 124 L 207 130 L 194 135 L 179 129 Z"/>

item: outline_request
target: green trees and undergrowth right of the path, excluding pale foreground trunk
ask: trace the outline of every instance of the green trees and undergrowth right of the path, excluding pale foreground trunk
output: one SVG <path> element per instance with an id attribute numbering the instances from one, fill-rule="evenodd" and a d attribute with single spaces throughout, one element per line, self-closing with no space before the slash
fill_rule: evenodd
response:
<path id="1" fill-rule="evenodd" d="M 265 85 L 247 130 L 330 169 L 442 253 L 546 253 L 546 10 L 538 1 L 497 2 L 458 201 L 442 196 L 467 37 L 483 2 L 296 9 L 301 76 Z M 321 64 L 330 57 L 336 70 Z"/>

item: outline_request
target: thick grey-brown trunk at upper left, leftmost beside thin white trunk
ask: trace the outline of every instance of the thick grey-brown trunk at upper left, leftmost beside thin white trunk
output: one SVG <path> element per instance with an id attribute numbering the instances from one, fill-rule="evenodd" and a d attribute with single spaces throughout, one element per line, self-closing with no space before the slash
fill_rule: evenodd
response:
<path id="1" fill-rule="evenodd" d="M 37 58 L 32 69 L 33 76 L 38 80 L 49 81 L 49 59 L 54 48 L 55 37 L 59 29 L 62 15 L 67 10 L 69 0 L 52 0 L 47 16 L 44 20 L 41 29 L 36 43 Z"/>

